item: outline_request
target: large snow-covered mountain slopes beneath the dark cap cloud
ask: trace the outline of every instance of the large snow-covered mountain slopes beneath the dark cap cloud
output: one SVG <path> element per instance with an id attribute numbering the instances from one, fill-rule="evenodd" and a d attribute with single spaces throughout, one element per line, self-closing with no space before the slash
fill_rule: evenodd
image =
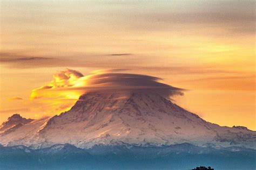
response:
<path id="1" fill-rule="evenodd" d="M 101 91 L 82 95 L 67 112 L 30 121 L 0 134 L 4 146 L 44 148 L 69 143 L 79 148 L 129 144 L 256 148 L 256 132 L 204 121 L 153 91 Z"/>

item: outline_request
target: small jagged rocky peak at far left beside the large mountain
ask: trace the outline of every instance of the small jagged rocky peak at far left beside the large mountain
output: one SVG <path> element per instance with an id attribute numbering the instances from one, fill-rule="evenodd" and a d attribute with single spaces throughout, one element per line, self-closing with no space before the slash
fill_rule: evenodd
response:
<path id="1" fill-rule="evenodd" d="M 26 118 L 23 118 L 19 114 L 14 114 L 11 117 L 9 117 L 8 120 L 5 121 L 0 126 L 0 133 L 8 134 L 8 133 L 20 128 L 21 126 L 32 122 L 32 121 L 33 121 L 33 119 L 26 119 Z"/>

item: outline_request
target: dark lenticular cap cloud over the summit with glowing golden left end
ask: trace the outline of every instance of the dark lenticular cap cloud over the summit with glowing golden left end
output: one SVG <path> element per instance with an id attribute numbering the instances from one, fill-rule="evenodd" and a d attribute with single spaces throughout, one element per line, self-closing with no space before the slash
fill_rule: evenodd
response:
<path id="1" fill-rule="evenodd" d="M 168 84 L 160 83 L 159 77 L 129 74 L 129 73 L 99 73 L 84 76 L 82 73 L 65 69 L 62 72 L 53 74 L 53 80 L 46 86 L 32 90 L 31 98 L 41 97 L 39 91 L 80 91 L 84 94 L 88 91 L 98 90 L 154 90 L 159 94 L 169 97 L 172 95 L 183 95 L 181 88 L 172 87 Z M 82 95 L 80 94 L 80 95 Z"/>

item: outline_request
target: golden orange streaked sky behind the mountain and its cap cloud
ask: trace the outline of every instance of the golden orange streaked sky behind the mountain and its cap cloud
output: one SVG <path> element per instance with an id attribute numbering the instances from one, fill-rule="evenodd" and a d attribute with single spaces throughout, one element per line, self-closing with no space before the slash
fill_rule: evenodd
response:
<path id="1" fill-rule="evenodd" d="M 72 91 L 42 94 L 42 87 L 126 73 L 183 89 L 172 101 L 208 122 L 256 130 L 254 1 L 3 0 L 0 6 L 0 123 L 16 113 L 59 114 L 78 98 Z"/>

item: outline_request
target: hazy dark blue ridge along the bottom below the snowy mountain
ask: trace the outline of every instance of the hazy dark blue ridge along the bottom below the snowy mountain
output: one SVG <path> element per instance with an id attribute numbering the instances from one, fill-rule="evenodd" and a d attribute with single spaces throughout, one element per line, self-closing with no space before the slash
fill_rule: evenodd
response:
<path id="1" fill-rule="evenodd" d="M 22 145 L 0 145 L 0 169 L 255 169 L 256 151 L 244 148 L 199 147 L 188 143 L 171 146 L 97 145 L 81 149 L 56 144 L 32 150 Z"/>

